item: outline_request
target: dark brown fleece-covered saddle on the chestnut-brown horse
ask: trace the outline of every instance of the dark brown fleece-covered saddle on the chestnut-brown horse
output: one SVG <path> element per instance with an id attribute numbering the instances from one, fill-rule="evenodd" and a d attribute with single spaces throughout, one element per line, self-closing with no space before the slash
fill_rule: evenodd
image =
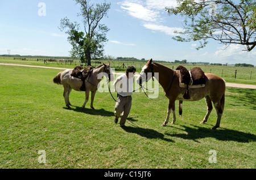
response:
<path id="1" fill-rule="evenodd" d="M 184 94 L 185 99 L 189 99 L 189 88 L 203 88 L 205 87 L 205 74 L 200 67 L 194 67 L 190 71 L 183 66 L 178 66 L 176 70 L 180 72 L 180 87 L 187 88 Z"/>

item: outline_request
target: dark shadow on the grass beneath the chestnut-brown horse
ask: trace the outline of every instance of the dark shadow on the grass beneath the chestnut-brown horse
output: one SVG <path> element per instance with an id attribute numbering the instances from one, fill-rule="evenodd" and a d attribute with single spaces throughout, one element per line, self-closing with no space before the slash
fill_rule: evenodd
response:
<path id="1" fill-rule="evenodd" d="M 202 138 L 214 138 L 217 140 L 222 141 L 234 141 L 238 143 L 249 143 L 249 142 L 255 142 L 256 136 L 254 134 L 236 131 L 236 130 L 229 130 L 227 128 L 218 128 L 217 130 L 211 130 L 206 127 L 199 127 L 199 126 L 181 126 L 183 128 L 174 127 L 179 130 L 185 131 L 184 134 L 171 134 L 167 133 L 166 135 L 176 138 L 182 138 L 182 139 L 191 139 L 195 142 L 198 142 L 197 139 Z"/>

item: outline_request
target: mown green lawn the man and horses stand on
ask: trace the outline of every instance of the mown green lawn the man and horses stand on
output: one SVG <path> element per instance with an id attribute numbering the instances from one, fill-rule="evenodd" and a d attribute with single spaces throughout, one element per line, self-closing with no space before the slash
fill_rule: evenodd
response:
<path id="1" fill-rule="evenodd" d="M 214 110 L 200 124 L 204 99 L 184 102 L 176 125 L 162 127 L 167 98 L 134 93 L 123 129 L 114 123 L 115 102 L 107 92 L 96 93 L 96 110 L 89 101 L 81 112 L 85 94 L 72 91 L 72 109 L 65 108 L 63 86 L 52 82 L 59 71 L 0 66 L 0 168 L 256 168 L 256 89 L 227 88 L 217 130 L 210 130 Z M 211 149 L 216 163 L 209 162 Z M 40 150 L 45 164 L 38 161 Z"/>

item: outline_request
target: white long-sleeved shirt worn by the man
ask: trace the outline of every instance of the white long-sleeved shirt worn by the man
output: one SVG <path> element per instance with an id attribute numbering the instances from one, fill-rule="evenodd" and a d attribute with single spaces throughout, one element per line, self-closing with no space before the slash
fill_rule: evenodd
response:
<path id="1" fill-rule="evenodd" d="M 127 78 L 126 74 L 118 76 L 117 79 L 114 81 L 114 89 L 121 96 L 131 96 L 133 95 L 133 78 Z"/>

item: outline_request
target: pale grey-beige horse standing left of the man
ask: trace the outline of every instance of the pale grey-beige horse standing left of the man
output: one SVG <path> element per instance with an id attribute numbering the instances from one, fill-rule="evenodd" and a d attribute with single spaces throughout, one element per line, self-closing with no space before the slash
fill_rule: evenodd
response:
<path id="1" fill-rule="evenodd" d="M 59 74 L 57 74 L 55 76 L 55 78 L 53 78 L 54 83 L 62 84 L 64 87 L 63 96 L 64 96 L 64 100 L 65 100 L 65 103 L 66 103 L 66 106 L 68 107 L 68 109 L 71 109 L 71 107 L 70 107 L 71 104 L 69 102 L 70 92 L 72 91 L 72 89 L 74 89 L 75 91 L 81 91 L 80 87 L 82 85 L 81 79 L 71 76 L 72 71 L 73 71 L 72 69 L 68 69 L 63 72 L 59 72 Z M 102 73 L 102 74 L 100 74 L 100 73 Z M 90 108 L 94 109 L 93 108 L 94 96 L 98 89 L 98 83 L 100 83 L 100 81 L 104 75 L 105 76 L 108 75 L 110 81 L 114 80 L 114 76 L 112 73 L 112 69 L 110 67 L 110 63 L 108 65 L 105 65 L 103 63 L 103 65 L 95 67 L 93 69 L 93 71 L 91 72 L 91 74 L 88 76 L 88 78 L 85 79 L 85 102 L 82 105 L 82 110 L 84 110 L 84 107 L 89 100 L 90 92 L 92 92 Z"/>

